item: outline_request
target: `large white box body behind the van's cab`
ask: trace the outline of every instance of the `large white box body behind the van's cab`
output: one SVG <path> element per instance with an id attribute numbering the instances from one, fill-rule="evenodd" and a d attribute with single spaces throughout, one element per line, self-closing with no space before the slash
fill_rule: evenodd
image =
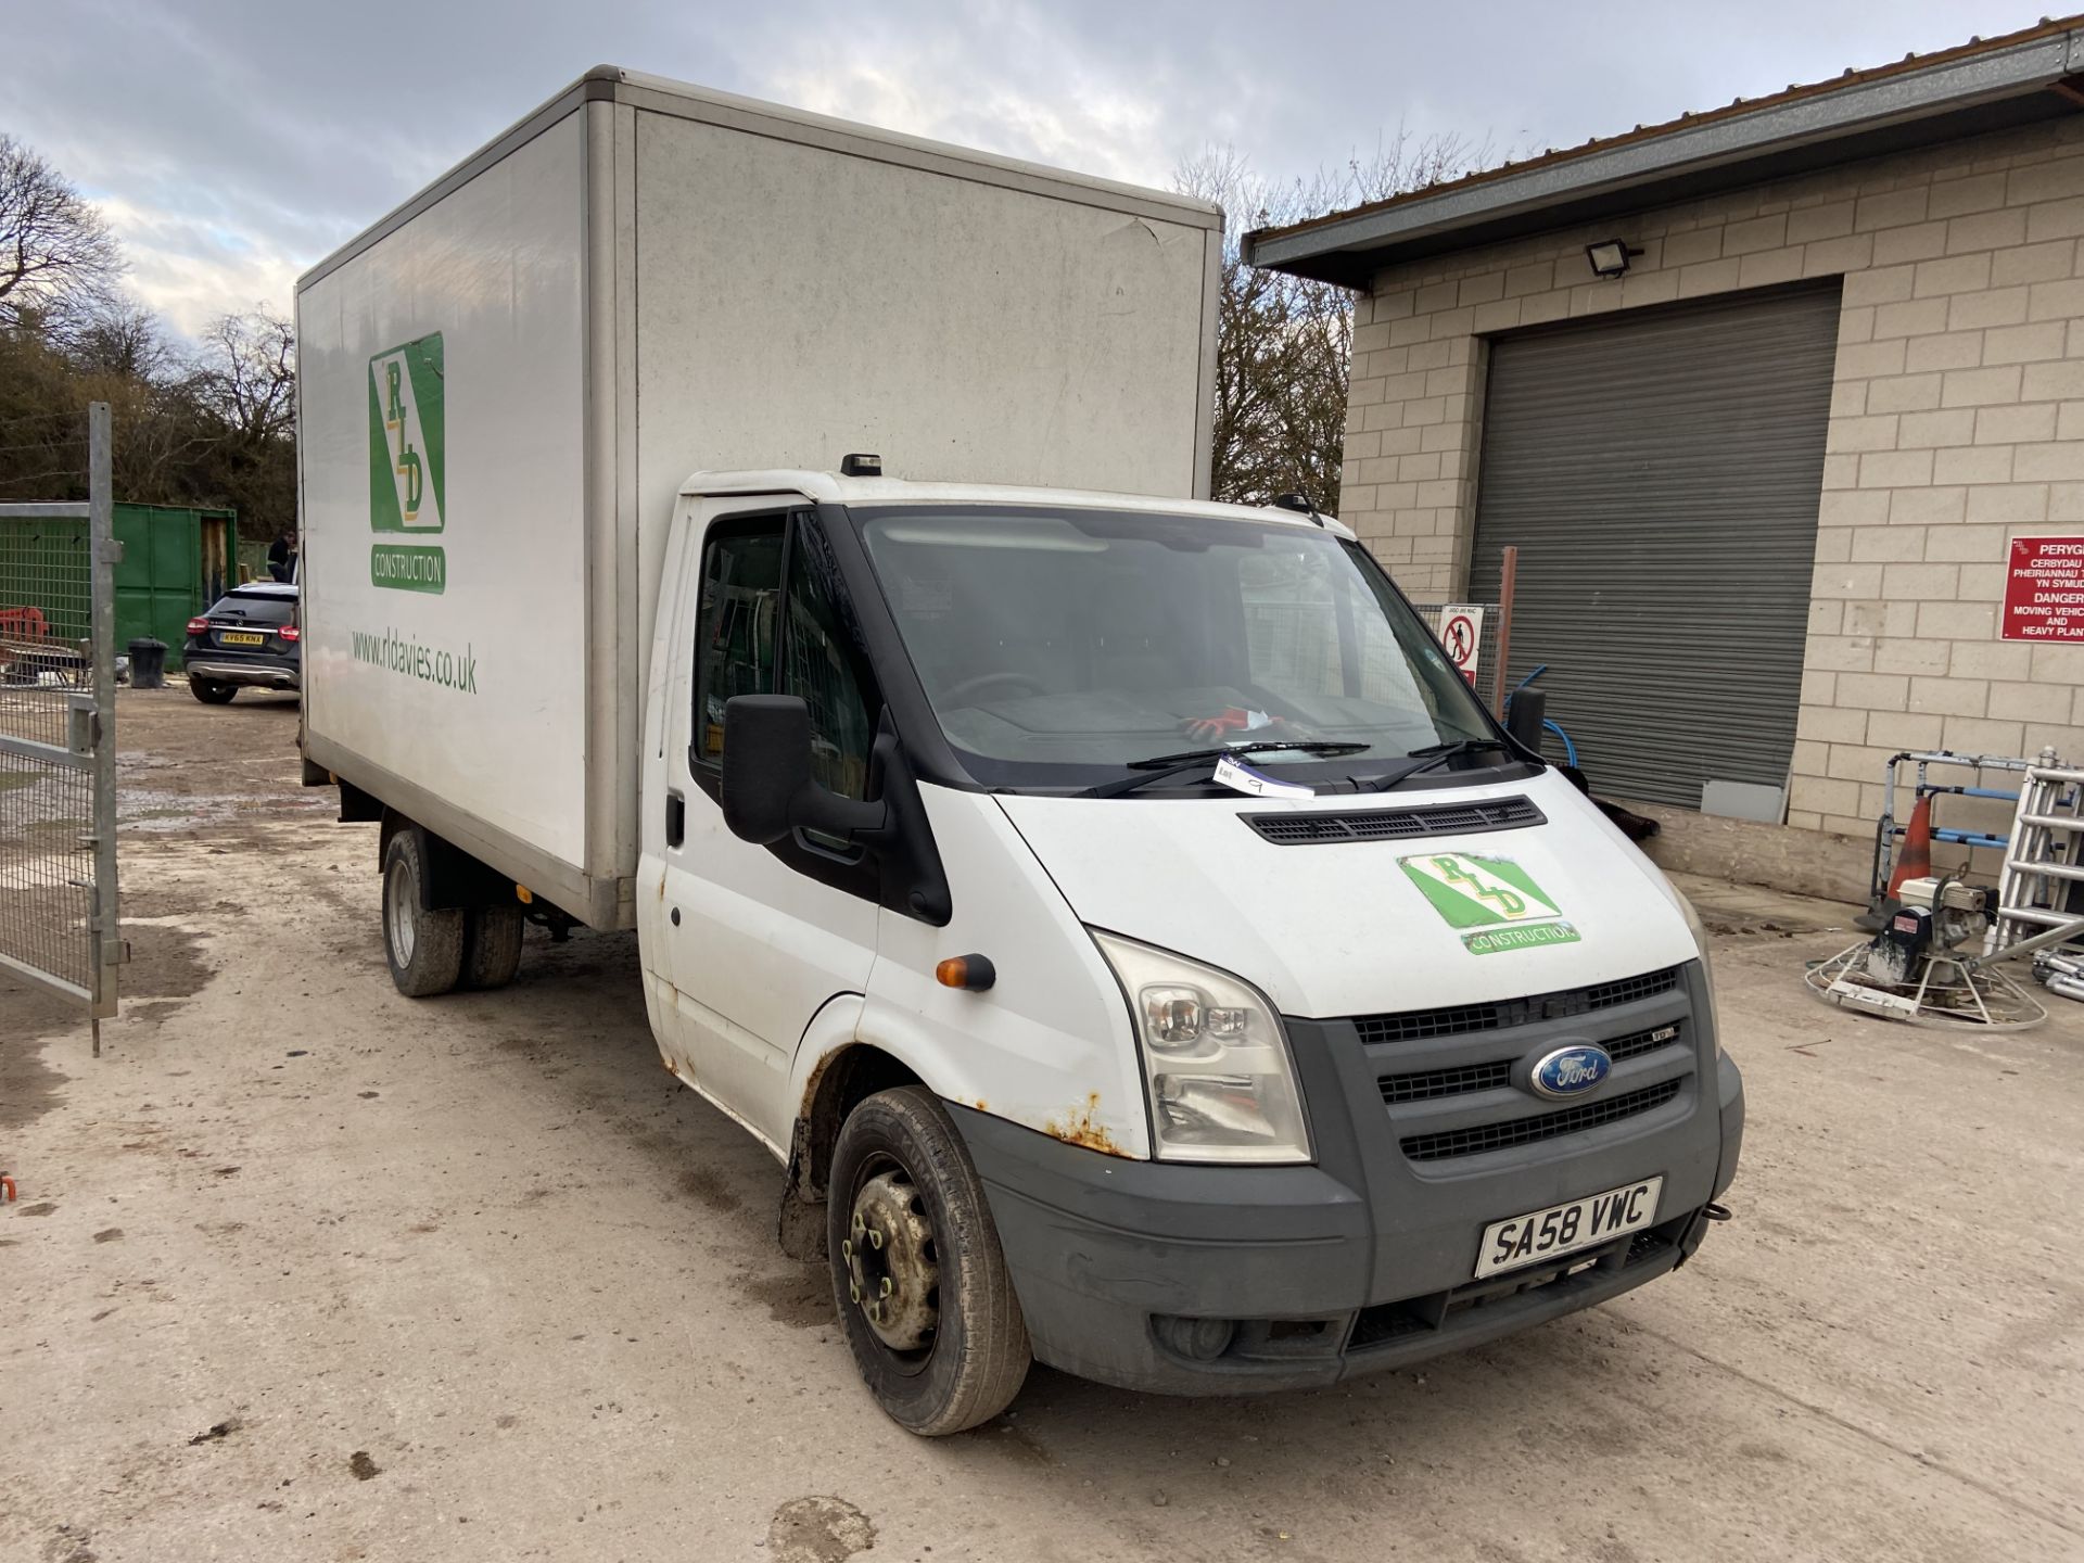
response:
<path id="1" fill-rule="evenodd" d="M 298 281 L 306 756 L 629 927 L 700 467 L 1190 498 L 1221 215 L 598 69 Z"/>

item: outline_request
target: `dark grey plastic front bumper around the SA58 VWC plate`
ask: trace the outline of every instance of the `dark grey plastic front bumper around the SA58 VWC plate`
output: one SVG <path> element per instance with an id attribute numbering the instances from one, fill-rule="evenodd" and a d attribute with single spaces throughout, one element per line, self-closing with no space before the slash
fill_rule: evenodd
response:
<path id="1" fill-rule="evenodd" d="M 1705 994 L 1703 994 L 1705 996 Z M 1655 1113 L 1419 1165 L 1384 1125 L 1382 1061 L 1292 1023 L 1317 1165 L 1127 1161 L 948 1102 L 984 1180 L 1036 1357 L 1167 1394 L 1336 1384 L 1525 1330 L 1682 1265 L 1736 1173 L 1742 1082 L 1711 1025 Z M 1446 1171 L 1442 1171 L 1446 1169 Z M 1663 1173 L 1661 1219 L 1473 1282 L 1482 1227 Z M 1217 1321 L 1209 1350 L 1186 1321 Z"/>

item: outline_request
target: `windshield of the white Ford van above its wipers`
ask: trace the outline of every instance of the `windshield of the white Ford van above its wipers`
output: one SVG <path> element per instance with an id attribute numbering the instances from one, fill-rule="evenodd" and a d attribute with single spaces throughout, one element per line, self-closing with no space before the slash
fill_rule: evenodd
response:
<path id="1" fill-rule="evenodd" d="M 986 786 L 1119 777 L 1190 748 L 1365 779 L 1496 729 L 1357 544 L 1161 513 L 857 511 L 904 648 Z"/>

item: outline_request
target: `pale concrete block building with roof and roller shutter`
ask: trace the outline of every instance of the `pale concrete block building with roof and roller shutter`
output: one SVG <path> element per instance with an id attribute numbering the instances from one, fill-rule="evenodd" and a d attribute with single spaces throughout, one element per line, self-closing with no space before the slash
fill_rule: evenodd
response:
<path id="1" fill-rule="evenodd" d="M 1598 790 L 1838 894 L 1890 754 L 2084 759 L 2080 246 L 2084 19 L 1244 240 L 1365 290 L 1340 511 L 1396 579 L 1517 546 Z"/>

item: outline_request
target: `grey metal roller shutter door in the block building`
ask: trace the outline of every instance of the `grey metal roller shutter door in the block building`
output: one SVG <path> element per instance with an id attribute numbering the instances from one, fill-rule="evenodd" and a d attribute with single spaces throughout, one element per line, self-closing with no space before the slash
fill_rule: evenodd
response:
<path id="1" fill-rule="evenodd" d="M 1471 596 L 1517 544 L 1511 681 L 1601 794 L 1776 813 L 1836 346 L 1836 281 L 1492 344 Z"/>

